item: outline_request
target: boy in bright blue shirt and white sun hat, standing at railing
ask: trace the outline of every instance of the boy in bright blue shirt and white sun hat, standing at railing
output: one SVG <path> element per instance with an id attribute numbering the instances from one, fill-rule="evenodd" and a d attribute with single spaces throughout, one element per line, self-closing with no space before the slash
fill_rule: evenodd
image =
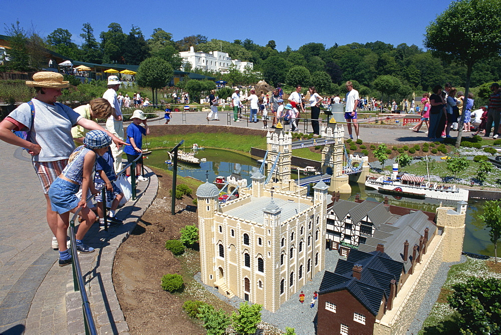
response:
<path id="1" fill-rule="evenodd" d="M 127 155 L 127 163 L 131 163 L 134 161 L 143 151 L 141 150 L 143 146 L 143 135 L 150 134 L 150 128 L 146 124 L 146 116 L 143 111 L 136 109 L 134 113 L 132 113 L 132 123 L 127 127 L 127 145 L 124 148 L 124 153 Z M 141 123 L 144 124 L 144 127 L 141 126 Z M 137 181 L 147 181 L 148 178 L 144 178 L 141 176 L 141 166 L 143 165 L 143 158 L 141 157 L 136 165 L 136 180 Z M 131 171 L 130 167 L 127 168 L 125 172 L 127 178 L 130 177 Z"/>

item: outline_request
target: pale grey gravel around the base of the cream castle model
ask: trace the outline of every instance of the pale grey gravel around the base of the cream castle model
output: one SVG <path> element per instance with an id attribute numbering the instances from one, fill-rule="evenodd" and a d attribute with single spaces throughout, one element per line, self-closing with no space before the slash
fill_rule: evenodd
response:
<path id="1" fill-rule="evenodd" d="M 325 270 L 334 271 L 339 259 L 339 252 L 336 250 L 326 250 L 326 259 L 325 259 Z M 266 323 L 273 324 L 278 328 L 285 331 L 285 327 L 295 328 L 295 332 L 297 334 L 314 334 L 316 324 L 316 315 L 317 315 L 317 304 L 315 307 L 310 308 L 310 301 L 313 297 L 313 292 L 318 291 L 320 287 L 320 282 L 324 277 L 324 272 L 318 272 L 312 281 L 309 281 L 306 285 L 301 287 L 296 294 L 294 294 L 289 300 L 284 302 L 282 306 L 275 312 L 272 313 L 269 310 L 263 309 L 261 315 L 262 320 Z M 214 287 L 205 285 L 201 281 L 200 273 L 195 274 L 194 278 L 200 284 L 205 287 L 209 292 L 216 295 L 223 301 L 228 302 L 233 307 L 238 308 L 240 303 L 243 302 L 243 299 L 240 299 L 236 296 L 231 299 L 226 298 L 222 294 L 217 292 L 217 289 Z M 303 291 L 306 295 L 305 303 L 301 304 L 299 302 L 299 293 Z M 266 333 L 266 329 L 263 329 Z"/>

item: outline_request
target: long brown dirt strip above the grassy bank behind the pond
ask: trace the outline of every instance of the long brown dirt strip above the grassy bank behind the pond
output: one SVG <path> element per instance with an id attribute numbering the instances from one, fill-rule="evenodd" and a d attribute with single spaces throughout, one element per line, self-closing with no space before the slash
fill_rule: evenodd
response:
<path id="1" fill-rule="evenodd" d="M 211 125 L 158 125 L 150 126 L 151 137 L 162 135 L 179 135 L 179 134 L 193 134 L 193 133 L 231 133 L 236 135 L 256 135 L 263 136 L 266 134 L 265 130 L 243 128 L 243 127 L 230 127 L 230 126 L 211 126 Z"/>

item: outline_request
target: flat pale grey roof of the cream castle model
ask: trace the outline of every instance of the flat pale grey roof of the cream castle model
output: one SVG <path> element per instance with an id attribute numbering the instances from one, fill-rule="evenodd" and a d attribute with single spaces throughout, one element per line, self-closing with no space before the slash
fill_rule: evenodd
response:
<path id="1" fill-rule="evenodd" d="M 223 213 L 232 215 L 234 217 L 243 220 L 250 220 L 253 222 L 264 223 L 265 219 L 263 215 L 263 210 L 267 208 L 268 205 L 270 205 L 271 200 L 272 200 L 271 197 L 260 197 L 260 198 L 251 197 L 249 203 L 243 204 L 230 210 L 223 211 Z M 273 198 L 273 202 L 277 207 L 280 207 L 280 209 L 282 210 L 280 214 L 282 221 L 287 220 L 290 217 L 298 214 L 298 211 L 302 212 L 305 209 L 308 209 L 312 206 L 312 203 L 310 201 L 303 202 L 303 200 L 301 201 L 299 206 L 297 200 L 289 201 L 279 198 Z"/>

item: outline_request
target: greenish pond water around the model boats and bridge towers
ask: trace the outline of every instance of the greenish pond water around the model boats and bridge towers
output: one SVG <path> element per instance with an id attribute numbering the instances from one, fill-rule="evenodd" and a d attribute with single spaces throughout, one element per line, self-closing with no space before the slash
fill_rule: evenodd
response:
<path id="1" fill-rule="evenodd" d="M 196 154 L 197 158 L 205 158 L 206 162 L 201 162 L 200 166 L 178 163 L 178 175 L 183 177 L 193 177 L 195 179 L 205 181 L 208 178 L 209 182 L 214 181 L 216 176 L 229 176 L 231 173 L 238 173 L 240 176 L 250 183 L 250 176 L 259 170 L 261 166 L 255 159 L 248 155 L 240 154 L 223 149 L 205 149 Z M 172 166 L 165 164 L 165 160 L 169 159 L 166 149 L 153 150 L 152 154 L 145 160 L 146 165 L 155 166 L 165 170 L 172 170 Z M 208 174 L 207 174 L 208 171 Z M 208 177 L 207 177 L 208 175 Z M 302 176 L 301 176 L 302 177 Z M 292 178 L 297 178 L 297 174 L 292 174 Z M 381 202 L 384 200 L 384 195 L 377 191 L 365 187 L 363 184 L 350 183 L 352 193 L 342 195 L 343 199 L 353 199 L 357 193 L 361 199 L 369 199 L 372 201 Z M 434 212 L 439 206 L 439 202 L 435 200 L 415 200 L 410 198 L 396 199 L 393 196 L 388 196 L 389 202 L 395 206 L 403 206 L 413 209 L 419 209 L 428 212 Z M 466 230 L 463 242 L 463 251 L 478 253 L 482 255 L 494 255 L 494 246 L 489 240 L 489 233 L 483 227 L 483 222 L 478 218 L 482 214 L 481 206 L 483 200 L 469 200 L 468 209 L 466 211 Z M 455 202 L 446 203 L 444 205 L 456 207 Z M 498 249 L 501 248 L 501 242 L 498 243 Z"/>

